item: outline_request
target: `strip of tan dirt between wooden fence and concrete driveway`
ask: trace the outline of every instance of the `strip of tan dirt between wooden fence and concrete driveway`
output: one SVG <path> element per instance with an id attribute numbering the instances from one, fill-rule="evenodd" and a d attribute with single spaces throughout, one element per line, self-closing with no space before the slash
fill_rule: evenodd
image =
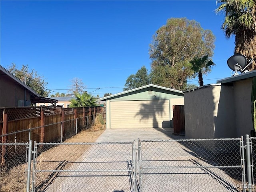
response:
<path id="1" fill-rule="evenodd" d="M 95 124 L 88 130 L 83 130 L 77 135 L 67 139 L 64 143 L 91 143 L 95 142 L 96 139 L 104 132 L 106 124 L 102 122 L 102 117 L 97 116 Z M 37 159 L 43 159 L 47 157 L 47 160 L 50 160 L 49 157 L 54 154 L 56 157 L 60 154 L 60 157 L 65 157 L 66 161 L 75 161 L 79 158 L 87 149 L 86 145 L 79 145 L 75 148 L 72 146 L 67 147 L 67 145 L 59 145 L 57 147 L 50 148 L 47 151 L 42 152 Z M 56 155 L 57 154 L 57 155 Z M 53 158 L 54 158 L 53 156 Z M 55 160 L 55 159 L 54 159 Z M 37 166 L 47 169 L 48 167 L 55 166 L 54 164 L 49 164 L 49 162 L 40 161 L 37 163 Z M 31 173 L 32 174 L 32 173 Z M 39 173 L 38 173 L 39 174 Z M 36 186 L 40 191 L 44 187 L 44 183 L 49 178 L 48 172 L 42 172 L 40 175 L 36 176 Z M 24 192 L 26 191 L 26 164 L 21 164 L 12 168 L 8 173 L 2 174 L 0 176 L 0 192 Z"/>

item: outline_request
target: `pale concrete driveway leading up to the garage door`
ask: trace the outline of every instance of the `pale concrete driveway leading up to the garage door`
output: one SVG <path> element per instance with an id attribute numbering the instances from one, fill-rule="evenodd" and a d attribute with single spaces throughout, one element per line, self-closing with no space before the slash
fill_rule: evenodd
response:
<path id="1" fill-rule="evenodd" d="M 111 144 L 92 145 L 80 160 L 74 162 L 74 166 L 69 168 L 70 172 L 60 174 L 46 191 L 131 192 L 133 156 L 131 142 L 135 140 L 138 148 L 138 138 L 140 140 L 173 140 L 184 139 L 184 136 L 175 135 L 172 128 L 107 129 L 96 142 L 111 142 Z M 130 142 L 130 144 L 124 144 L 124 142 Z M 198 150 L 203 149 L 198 148 Z M 138 151 L 136 153 L 138 154 Z M 224 178 L 226 175 L 224 171 L 214 168 L 207 172 L 196 167 L 195 162 L 206 162 L 194 156 L 189 148 L 178 141 L 142 142 L 142 161 L 143 192 L 235 191 L 218 179 L 218 177 Z M 138 162 L 136 165 L 138 168 Z M 218 172 L 220 175 L 214 176 L 210 171 Z M 138 182 L 138 169 L 136 177 Z M 225 180 L 229 179 L 227 177 Z"/>

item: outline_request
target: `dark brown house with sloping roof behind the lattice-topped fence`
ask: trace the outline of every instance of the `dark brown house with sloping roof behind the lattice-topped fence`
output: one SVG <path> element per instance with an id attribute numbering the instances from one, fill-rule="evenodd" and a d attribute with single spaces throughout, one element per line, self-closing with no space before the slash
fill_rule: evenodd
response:
<path id="1" fill-rule="evenodd" d="M 30 106 L 30 104 L 37 102 L 56 104 L 58 102 L 54 99 L 41 97 L 4 67 L 0 66 L 0 71 L 0 107 Z"/>

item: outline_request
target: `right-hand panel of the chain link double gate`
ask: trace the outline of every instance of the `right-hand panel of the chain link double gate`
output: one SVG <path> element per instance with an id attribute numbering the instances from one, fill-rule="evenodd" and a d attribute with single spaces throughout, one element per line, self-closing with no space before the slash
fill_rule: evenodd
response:
<path id="1" fill-rule="evenodd" d="M 245 191 L 243 138 L 138 139 L 138 150 L 140 192 Z"/>

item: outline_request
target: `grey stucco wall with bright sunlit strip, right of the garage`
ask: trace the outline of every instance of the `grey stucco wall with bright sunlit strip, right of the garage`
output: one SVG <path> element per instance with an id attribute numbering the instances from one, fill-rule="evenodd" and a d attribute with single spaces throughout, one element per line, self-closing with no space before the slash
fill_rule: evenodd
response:
<path id="1" fill-rule="evenodd" d="M 186 138 L 234 137 L 233 95 L 232 86 L 220 85 L 184 93 Z"/>

